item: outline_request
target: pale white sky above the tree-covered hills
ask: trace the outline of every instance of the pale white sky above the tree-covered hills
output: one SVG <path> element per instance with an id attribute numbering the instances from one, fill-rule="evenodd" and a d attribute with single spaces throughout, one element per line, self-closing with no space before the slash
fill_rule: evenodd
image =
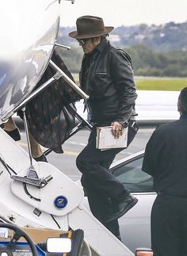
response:
<path id="1" fill-rule="evenodd" d="M 75 0 L 61 1 L 60 25 L 75 26 L 83 15 L 102 17 L 105 25 L 161 25 L 187 21 L 187 0 Z"/>

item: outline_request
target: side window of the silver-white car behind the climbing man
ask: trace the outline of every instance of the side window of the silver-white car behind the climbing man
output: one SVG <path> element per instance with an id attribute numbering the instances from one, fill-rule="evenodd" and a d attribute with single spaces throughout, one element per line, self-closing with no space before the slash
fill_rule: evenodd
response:
<path id="1" fill-rule="evenodd" d="M 131 192 L 154 192 L 153 179 L 151 175 L 141 170 L 142 162 L 143 158 L 139 158 L 127 164 L 124 162 L 115 166 L 113 175 Z"/>

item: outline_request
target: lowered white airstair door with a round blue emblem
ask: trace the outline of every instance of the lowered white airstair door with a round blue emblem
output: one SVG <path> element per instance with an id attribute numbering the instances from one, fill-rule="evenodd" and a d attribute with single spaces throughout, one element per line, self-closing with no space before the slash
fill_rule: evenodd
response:
<path id="1" fill-rule="evenodd" d="M 2 128 L 0 141 L 0 216 L 19 227 L 81 228 L 94 255 L 134 255 L 82 205 L 82 188 L 71 178 L 48 162 L 32 160 L 32 176 L 34 171 L 38 176 L 33 185 L 29 154 Z M 66 205 L 60 206 L 65 199 Z"/>

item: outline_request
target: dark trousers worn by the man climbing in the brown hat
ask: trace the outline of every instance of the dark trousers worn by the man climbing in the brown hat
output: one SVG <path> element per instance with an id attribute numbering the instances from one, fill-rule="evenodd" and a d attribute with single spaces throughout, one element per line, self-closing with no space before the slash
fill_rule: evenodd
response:
<path id="1" fill-rule="evenodd" d="M 116 236 L 120 235 L 118 221 L 114 220 L 106 224 L 105 216 L 113 211 L 111 198 L 115 201 L 121 194 L 127 193 L 124 185 L 109 173 L 109 166 L 121 150 L 123 148 L 107 151 L 96 149 L 96 128 L 93 128 L 87 146 L 76 161 L 78 170 L 82 172 L 82 186 L 86 189 L 93 216 Z"/>

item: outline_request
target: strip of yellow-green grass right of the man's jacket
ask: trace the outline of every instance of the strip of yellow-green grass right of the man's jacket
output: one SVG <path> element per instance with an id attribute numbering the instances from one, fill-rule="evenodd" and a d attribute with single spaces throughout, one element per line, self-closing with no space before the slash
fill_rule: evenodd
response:
<path id="1" fill-rule="evenodd" d="M 135 78 L 137 90 L 177 90 L 187 86 L 187 78 Z"/>

